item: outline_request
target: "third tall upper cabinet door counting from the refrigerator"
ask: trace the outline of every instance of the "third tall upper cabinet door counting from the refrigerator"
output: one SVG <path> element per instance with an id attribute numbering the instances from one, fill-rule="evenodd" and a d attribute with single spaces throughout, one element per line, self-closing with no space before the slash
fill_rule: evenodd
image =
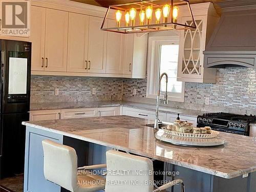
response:
<path id="1" fill-rule="evenodd" d="M 69 13 L 68 72 L 87 72 L 89 16 Z"/>

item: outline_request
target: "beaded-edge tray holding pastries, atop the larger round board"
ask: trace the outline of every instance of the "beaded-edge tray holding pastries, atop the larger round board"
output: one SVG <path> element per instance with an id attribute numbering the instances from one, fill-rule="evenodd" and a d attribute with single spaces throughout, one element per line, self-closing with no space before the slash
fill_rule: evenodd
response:
<path id="1" fill-rule="evenodd" d="M 164 131 L 164 133 L 169 134 L 169 135 L 179 136 L 179 137 L 210 139 L 210 138 L 215 138 L 215 137 L 217 137 L 218 134 L 220 134 L 219 132 L 214 131 L 214 130 L 211 130 L 210 134 L 181 133 L 181 132 L 166 130 L 165 127 L 166 126 L 162 127 L 162 130 Z"/>

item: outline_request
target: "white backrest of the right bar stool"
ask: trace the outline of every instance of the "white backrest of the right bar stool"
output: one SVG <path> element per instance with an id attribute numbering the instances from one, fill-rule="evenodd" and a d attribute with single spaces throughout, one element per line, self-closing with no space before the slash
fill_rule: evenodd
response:
<path id="1" fill-rule="evenodd" d="M 150 159 L 110 150 L 106 152 L 106 192 L 152 192 Z"/>

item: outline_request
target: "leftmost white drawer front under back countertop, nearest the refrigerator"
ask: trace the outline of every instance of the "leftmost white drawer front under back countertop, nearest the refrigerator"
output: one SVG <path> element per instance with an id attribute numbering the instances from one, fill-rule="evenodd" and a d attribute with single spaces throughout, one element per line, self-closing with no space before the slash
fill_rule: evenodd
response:
<path id="1" fill-rule="evenodd" d="M 60 119 L 60 110 L 38 110 L 30 111 L 30 121 Z"/>

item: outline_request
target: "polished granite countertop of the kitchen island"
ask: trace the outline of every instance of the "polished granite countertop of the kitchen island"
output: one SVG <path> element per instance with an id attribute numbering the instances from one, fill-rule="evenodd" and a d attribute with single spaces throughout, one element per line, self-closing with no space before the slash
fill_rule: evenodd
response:
<path id="1" fill-rule="evenodd" d="M 185 147 L 155 139 L 150 120 L 130 116 L 90 117 L 23 122 L 24 125 L 117 148 L 199 172 L 234 178 L 256 171 L 256 140 L 221 132 L 217 147 Z M 152 121 L 151 121 L 152 122 Z"/>

